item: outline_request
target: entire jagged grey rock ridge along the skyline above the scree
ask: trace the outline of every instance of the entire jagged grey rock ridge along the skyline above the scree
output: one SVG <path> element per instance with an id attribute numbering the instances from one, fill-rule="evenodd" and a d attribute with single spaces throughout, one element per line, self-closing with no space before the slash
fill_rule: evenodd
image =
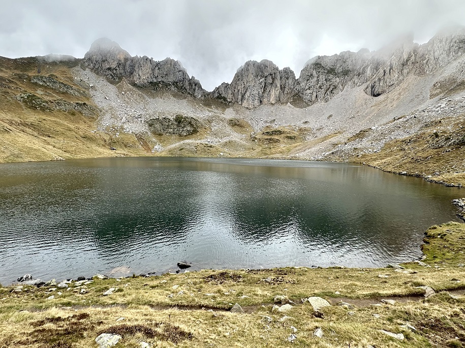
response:
<path id="1" fill-rule="evenodd" d="M 326 102 L 344 88 L 364 86 L 366 94 L 378 97 L 394 89 L 409 74 L 431 74 L 465 53 L 465 28 L 438 33 L 423 45 L 412 37 L 379 51 L 341 52 L 316 56 L 307 61 L 296 79 L 289 68 L 279 69 L 269 60 L 247 61 L 238 68 L 231 83 L 212 92 L 189 77 L 179 61 L 166 58 L 131 57 L 118 44 L 99 39 L 84 56 L 84 66 L 112 81 L 126 78 L 137 86 L 177 91 L 194 98 L 216 98 L 245 108 L 287 103 L 298 98 L 305 105 Z M 449 81 L 449 84 L 451 81 Z"/>

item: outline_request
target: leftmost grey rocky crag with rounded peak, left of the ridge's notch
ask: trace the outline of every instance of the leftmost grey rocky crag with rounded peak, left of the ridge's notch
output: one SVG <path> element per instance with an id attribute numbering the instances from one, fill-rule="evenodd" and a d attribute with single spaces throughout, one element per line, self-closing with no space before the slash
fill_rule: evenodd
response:
<path id="1" fill-rule="evenodd" d="M 126 78 L 129 83 L 155 90 L 177 91 L 201 98 L 205 94 L 200 82 L 189 77 L 177 60 L 132 57 L 109 39 L 95 41 L 84 56 L 83 64 L 111 81 Z"/>

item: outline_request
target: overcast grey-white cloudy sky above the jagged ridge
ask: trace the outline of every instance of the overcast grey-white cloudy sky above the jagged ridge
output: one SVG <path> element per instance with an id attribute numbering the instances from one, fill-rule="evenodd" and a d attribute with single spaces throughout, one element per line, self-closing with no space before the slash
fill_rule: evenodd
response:
<path id="1" fill-rule="evenodd" d="M 212 90 L 247 60 L 300 74 L 316 55 L 377 50 L 413 33 L 465 25 L 464 0 L 0 0 L 0 56 L 81 58 L 101 37 L 131 55 L 181 61 Z"/>

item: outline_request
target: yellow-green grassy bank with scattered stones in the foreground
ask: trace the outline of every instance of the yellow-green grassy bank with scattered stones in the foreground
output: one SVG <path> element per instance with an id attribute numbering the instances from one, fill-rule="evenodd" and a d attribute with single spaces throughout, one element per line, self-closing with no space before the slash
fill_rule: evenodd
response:
<path id="1" fill-rule="evenodd" d="M 119 334 L 120 347 L 465 346 L 465 224 L 431 227 L 423 252 L 423 263 L 404 268 L 203 270 L 0 288 L 0 347 L 98 347 L 101 333 Z M 309 296 L 332 305 L 314 310 L 302 303 Z M 274 302 L 292 307 L 273 310 Z M 235 303 L 244 313 L 230 311 Z"/>

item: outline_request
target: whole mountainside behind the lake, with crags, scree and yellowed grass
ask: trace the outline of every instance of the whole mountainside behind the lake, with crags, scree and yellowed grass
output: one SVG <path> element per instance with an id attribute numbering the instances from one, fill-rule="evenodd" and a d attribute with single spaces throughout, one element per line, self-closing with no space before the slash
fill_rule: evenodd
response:
<path id="1" fill-rule="evenodd" d="M 248 61 L 212 92 L 180 62 L 132 57 L 108 39 L 83 59 L 1 58 L 0 161 L 268 156 L 363 161 L 465 185 L 464 53 L 465 30 L 454 28 L 423 45 L 403 38 L 314 57 L 298 79 Z"/>

